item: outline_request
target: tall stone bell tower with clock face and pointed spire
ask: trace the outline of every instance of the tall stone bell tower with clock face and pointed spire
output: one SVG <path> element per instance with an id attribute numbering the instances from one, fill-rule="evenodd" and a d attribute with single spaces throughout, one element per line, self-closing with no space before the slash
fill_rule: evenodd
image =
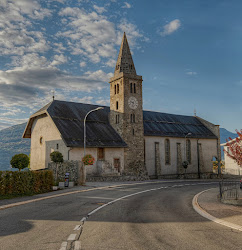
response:
<path id="1" fill-rule="evenodd" d="M 128 145 L 124 149 L 124 172 L 144 173 L 142 76 L 136 74 L 125 33 L 110 79 L 110 124 Z"/>

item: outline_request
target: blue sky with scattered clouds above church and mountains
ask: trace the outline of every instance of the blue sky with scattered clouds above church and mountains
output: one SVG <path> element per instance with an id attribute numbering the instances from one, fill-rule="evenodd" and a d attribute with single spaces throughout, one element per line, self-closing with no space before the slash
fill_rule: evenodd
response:
<path id="1" fill-rule="evenodd" d="M 126 32 L 143 108 L 242 129 L 240 0 L 0 0 L 0 129 L 55 99 L 109 106 Z"/>

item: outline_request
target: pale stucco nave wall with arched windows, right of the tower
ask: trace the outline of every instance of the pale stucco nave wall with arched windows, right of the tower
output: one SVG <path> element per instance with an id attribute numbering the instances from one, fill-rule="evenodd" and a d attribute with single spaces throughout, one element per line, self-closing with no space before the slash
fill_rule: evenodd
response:
<path id="1" fill-rule="evenodd" d="M 171 161 L 169 165 L 165 164 L 165 139 L 170 140 Z M 198 172 L 197 160 L 197 142 L 202 145 L 202 161 L 203 171 L 212 172 L 212 159 L 217 157 L 217 140 L 216 139 L 193 139 L 191 141 L 191 164 L 188 165 L 187 173 Z M 177 173 L 177 143 L 181 145 L 181 157 L 184 161 L 185 138 L 173 137 L 155 137 L 145 136 L 145 162 L 148 174 L 155 175 L 155 142 L 159 142 L 161 174 L 176 174 Z"/>

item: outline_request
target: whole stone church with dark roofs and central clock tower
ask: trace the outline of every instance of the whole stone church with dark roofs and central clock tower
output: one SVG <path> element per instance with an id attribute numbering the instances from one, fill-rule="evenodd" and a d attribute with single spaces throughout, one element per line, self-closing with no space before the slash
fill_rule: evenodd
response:
<path id="1" fill-rule="evenodd" d="M 95 158 L 87 175 L 177 178 L 186 170 L 200 177 L 212 173 L 214 157 L 220 159 L 218 125 L 198 116 L 143 110 L 142 76 L 125 33 L 110 79 L 110 107 L 53 100 L 30 116 L 23 138 L 31 138 L 31 169 L 48 168 L 53 151 L 65 161 L 81 161 L 87 114 L 86 154 Z"/>

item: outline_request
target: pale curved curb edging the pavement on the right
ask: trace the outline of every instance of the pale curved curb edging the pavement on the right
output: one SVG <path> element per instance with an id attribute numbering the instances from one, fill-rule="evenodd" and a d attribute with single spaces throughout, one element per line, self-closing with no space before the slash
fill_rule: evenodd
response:
<path id="1" fill-rule="evenodd" d="M 229 228 L 232 228 L 232 229 L 235 229 L 235 230 L 238 230 L 240 232 L 242 232 L 242 226 L 239 226 L 237 224 L 234 224 L 234 223 L 230 223 L 230 222 L 227 222 L 225 220 L 221 220 L 221 219 L 218 219 L 214 216 L 212 216 L 211 214 L 209 214 L 208 212 L 206 212 L 203 208 L 200 207 L 199 203 L 198 203 L 198 197 L 199 195 L 201 195 L 202 193 L 205 193 L 209 190 L 211 190 L 213 188 L 210 188 L 210 189 L 206 189 L 198 194 L 196 194 L 194 197 L 193 197 L 193 200 L 192 200 L 192 206 L 193 206 L 193 209 L 199 213 L 201 216 L 203 216 L 204 218 L 210 220 L 210 221 L 213 221 L 215 223 L 218 223 L 220 225 L 223 225 L 223 226 L 226 226 L 226 227 L 229 227 Z"/>

